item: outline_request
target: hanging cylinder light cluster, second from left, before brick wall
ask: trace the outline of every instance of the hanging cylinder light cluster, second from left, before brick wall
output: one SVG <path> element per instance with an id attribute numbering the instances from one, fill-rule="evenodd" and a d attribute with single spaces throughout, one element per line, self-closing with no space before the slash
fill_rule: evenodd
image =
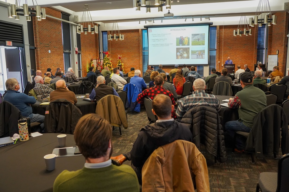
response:
<path id="1" fill-rule="evenodd" d="M 80 27 L 76 26 L 76 33 L 87 34 L 87 32 L 91 32 L 91 34 L 98 33 L 97 25 L 94 25 L 92 22 L 92 17 L 88 9 L 88 5 L 85 4 L 83 8 L 83 13 L 81 17 Z"/>

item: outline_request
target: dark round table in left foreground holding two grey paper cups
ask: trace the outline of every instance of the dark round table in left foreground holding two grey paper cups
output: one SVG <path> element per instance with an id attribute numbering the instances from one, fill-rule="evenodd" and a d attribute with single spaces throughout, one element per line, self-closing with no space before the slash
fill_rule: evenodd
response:
<path id="1" fill-rule="evenodd" d="M 59 148 L 58 133 L 30 137 L 27 141 L 0 148 L 0 191 L 52 191 L 55 178 L 63 171 L 83 168 L 84 156 L 56 157 L 55 170 L 47 171 L 43 157 Z M 73 135 L 66 134 L 66 146 L 75 147 Z"/>

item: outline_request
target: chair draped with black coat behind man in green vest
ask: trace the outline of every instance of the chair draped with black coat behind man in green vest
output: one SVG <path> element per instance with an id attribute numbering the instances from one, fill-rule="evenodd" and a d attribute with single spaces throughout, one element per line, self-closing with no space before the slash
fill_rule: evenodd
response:
<path id="1" fill-rule="evenodd" d="M 280 128 L 282 139 L 280 138 Z M 282 107 L 277 104 L 265 107 L 254 116 L 253 126 L 249 133 L 235 132 L 234 141 L 236 141 L 237 136 L 247 138 L 244 151 L 251 153 L 253 164 L 255 164 L 254 153 L 259 159 L 264 158 L 263 154 L 273 154 L 276 159 L 279 154 L 280 143 L 282 154 L 289 153 L 287 117 Z"/>

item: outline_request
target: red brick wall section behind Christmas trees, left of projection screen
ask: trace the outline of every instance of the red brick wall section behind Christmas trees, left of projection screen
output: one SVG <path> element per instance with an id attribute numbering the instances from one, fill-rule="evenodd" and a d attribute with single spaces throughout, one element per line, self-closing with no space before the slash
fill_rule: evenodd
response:
<path id="1" fill-rule="evenodd" d="M 121 61 L 124 65 L 125 73 L 131 67 L 142 72 L 142 31 L 141 29 L 121 30 L 124 40 L 108 41 L 108 51 L 112 60 L 113 67 L 116 67 L 118 55 L 122 55 Z"/>

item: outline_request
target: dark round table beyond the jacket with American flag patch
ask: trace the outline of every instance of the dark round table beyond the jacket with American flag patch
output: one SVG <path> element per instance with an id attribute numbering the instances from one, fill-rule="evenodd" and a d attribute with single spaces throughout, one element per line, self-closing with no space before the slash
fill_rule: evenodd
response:
<path id="1" fill-rule="evenodd" d="M 85 96 L 85 95 L 75 95 L 75 96 Z M 77 98 L 77 103 L 75 106 L 81 111 L 82 116 L 88 113 L 95 113 L 96 102 L 82 100 L 83 98 Z M 31 107 L 34 114 L 45 115 L 46 107 L 48 105 L 40 105 L 40 101 L 36 101 Z"/>

